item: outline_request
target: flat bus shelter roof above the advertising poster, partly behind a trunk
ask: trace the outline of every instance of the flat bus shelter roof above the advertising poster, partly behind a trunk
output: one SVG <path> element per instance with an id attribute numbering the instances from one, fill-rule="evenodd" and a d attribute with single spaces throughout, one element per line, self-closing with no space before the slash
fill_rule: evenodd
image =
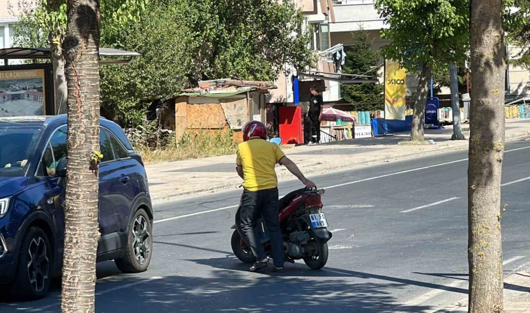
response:
<path id="1" fill-rule="evenodd" d="M 131 63 L 137 56 L 141 54 L 132 51 L 124 51 L 120 49 L 112 48 L 100 48 L 100 57 L 121 57 L 126 59 L 109 59 L 101 60 L 101 64 L 128 64 Z M 0 49 L 0 60 L 20 60 L 20 59 L 39 59 L 39 58 L 52 58 L 52 52 L 50 48 L 5 48 Z"/>

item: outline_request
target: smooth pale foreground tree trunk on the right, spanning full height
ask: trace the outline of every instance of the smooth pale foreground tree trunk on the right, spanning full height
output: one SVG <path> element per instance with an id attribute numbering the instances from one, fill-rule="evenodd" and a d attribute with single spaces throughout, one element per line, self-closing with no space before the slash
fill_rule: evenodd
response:
<path id="1" fill-rule="evenodd" d="M 469 312 L 503 311 L 501 170 L 504 154 L 502 0 L 471 2 Z"/>

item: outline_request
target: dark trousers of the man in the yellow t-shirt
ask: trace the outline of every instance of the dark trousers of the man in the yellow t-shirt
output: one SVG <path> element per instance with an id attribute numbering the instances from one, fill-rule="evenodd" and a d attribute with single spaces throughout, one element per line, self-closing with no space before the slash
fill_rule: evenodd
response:
<path id="1" fill-rule="evenodd" d="M 278 188 L 262 191 L 243 191 L 241 204 L 236 214 L 236 225 L 243 241 L 250 247 L 256 259 L 262 260 L 267 256 L 262 243 L 259 241 L 256 229 L 257 220 L 261 217 L 265 220 L 268 236 L 271 239 L 273 259 L 275 266 L 283 266 L 285 262 L 282 241 L 282 229 L 278 221 Z"/>

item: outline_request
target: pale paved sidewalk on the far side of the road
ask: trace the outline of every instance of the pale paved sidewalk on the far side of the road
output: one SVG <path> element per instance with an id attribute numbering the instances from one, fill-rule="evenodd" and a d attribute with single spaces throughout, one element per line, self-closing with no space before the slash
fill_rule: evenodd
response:
<path id="1" fill-rule="evenodd" d="M 469 125 L 462 125 L 469 138 Z M 425 130 L 425 139 L 436 145 L 398 145 L 409 134 L 355 139 L 314 146 L 285 148 L 284 152 L 296 162 L 308 177 L 378 163 L 425 157 L 433 154 L 466 150 L 469 142 L 451 141 L 452 127 Z M 506 141 L 530 137 L 530 120 L 506 120 Z M 234 155 L 191 159 L 146 166 L 153 202 L 169 200 L 196 193 L 235 189 L 241 184 L 236 174 Z M 294 178 L 286 168 L 278 167 L 280 181 Z"/>

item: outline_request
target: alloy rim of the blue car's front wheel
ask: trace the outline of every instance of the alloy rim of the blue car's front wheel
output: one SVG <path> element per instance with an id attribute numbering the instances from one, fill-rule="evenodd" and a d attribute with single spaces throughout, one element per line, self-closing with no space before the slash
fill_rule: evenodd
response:
<path id="1" fill-rule="evenodd" d="M 43 291 L 50 274 L 50 260 L 44 239 L 33 238 L 28 248 L 29 283 L 36 292 Z"/>

